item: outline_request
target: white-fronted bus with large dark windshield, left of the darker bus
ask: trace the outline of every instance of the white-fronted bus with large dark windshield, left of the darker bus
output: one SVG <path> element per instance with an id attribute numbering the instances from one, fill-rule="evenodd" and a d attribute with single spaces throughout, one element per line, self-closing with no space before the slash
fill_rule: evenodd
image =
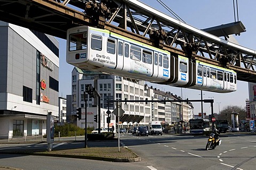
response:
<path id="1" fill-rule="evenodd" d="M 210 132 L 210 121 L 204 118 L 189 120 L 190 133 L 206 134 Z"/>

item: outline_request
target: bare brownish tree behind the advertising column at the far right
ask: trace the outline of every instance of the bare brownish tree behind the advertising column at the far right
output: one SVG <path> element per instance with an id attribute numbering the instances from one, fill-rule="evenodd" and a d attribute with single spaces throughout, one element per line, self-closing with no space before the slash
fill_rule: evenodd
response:
<path id="1" fill-rule="evenodd" d="M 225 106 L 221 111 L 220 115 L 216 118 L 218 120 L 228 120 L 228 123 L 231 125 L 231 114 L 232 113 L 239 113 L 238 114 L 238 122 L 240 123 L 241 120 L 245 120 L 246 118 L 246 109 L 242 108 L 241 106 Z"/>

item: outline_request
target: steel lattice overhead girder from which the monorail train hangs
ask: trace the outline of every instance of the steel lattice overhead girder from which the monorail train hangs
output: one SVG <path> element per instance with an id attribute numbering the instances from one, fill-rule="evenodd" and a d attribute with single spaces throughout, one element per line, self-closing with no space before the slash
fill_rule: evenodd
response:
<path id="1" fill-rule="evenodd" d="M 191 60 L 228 67 L 237 72 L 238 80 L 256 83 L 255 50 L 191 27 L 137 0 L 101 1 L 102 8 L 111 11 L 106 18 L 104 12 L 97 18 L 86 13 L 87 2 L 0 0 L 0 20 L 63 39 L 67 29 L 77 25 L 104 28 Z M 158 41 L 150 39 L 152 31 Z"/>

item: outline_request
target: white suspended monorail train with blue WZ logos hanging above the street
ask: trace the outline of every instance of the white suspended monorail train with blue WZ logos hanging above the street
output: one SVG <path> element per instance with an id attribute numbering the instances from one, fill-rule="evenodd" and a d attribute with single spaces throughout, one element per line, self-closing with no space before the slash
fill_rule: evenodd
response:
<path id="1" fill-rule="evenodd" d="M 191 61 L 104 29 L 79 26 L 67 30 L 67 63 L 175 87 L 213 92 L 236 91 L 236 72 Z"/>

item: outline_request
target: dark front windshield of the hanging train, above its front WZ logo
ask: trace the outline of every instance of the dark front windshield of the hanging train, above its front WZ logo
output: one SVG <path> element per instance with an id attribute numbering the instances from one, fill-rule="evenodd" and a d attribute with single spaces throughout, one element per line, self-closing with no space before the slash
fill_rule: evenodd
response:
<path id="1" fill-rule="evenodd" d="M 73 33 L 69 36 L 69 51 L 87 49 L 87 32 Z"/>

